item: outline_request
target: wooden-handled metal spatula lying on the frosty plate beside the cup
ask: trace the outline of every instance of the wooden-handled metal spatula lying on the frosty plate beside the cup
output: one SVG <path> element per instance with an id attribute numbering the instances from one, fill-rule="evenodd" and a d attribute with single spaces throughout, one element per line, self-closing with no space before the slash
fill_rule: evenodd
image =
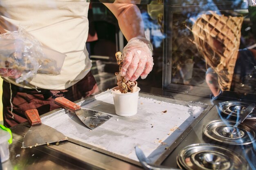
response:
<path id="1" fill-rule="evenodd" d="M 64 97 L 57 97 L 54 102 L 61 107 L 76 113 L 83 124 L 91 130 L 101 126 L 112 117 L 106 113 L 81 108 L 78 104 L 75 104 Z"/>

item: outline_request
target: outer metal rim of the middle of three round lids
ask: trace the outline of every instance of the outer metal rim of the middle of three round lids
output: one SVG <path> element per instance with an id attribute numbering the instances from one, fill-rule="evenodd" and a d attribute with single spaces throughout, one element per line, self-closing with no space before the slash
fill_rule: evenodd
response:
<path id="1" fill-rule="evenodd" d="M 224 140 L 221 140 L 221 139 L 217 139 L 216 137 L 213 137 L 213 136 L 211 136 L 209 134 L 209 132 L 207 130 L 209 128 L 209 126 L 211 126 L 213 124 L 225 123 L 225 122 L 227 122 L 227 123 L 229 123 L 229 124 L 231 124 L 233 126 L 235 126 L 235 124 L 236 124 L 236 121 L 231 121 L 231 120 L 214 120 L 214 121 L 210 121 L 210 122 L 208 122 L 207 124 L 205 124 L 203 126 L 203 134 L 205 136 L 207 136 L 209 139 L 212 139 L 212 140 L 215 140 L 215 141 L 218 141 L 218 142 L 221 142 L 221 143 L 225 143 L 225 144 L 230 144 L 230 145 L 249 145 L 249 144 L 252 144 L 254 141 L 256 141 L 256 134 L 254 132 L 254 129 L 251 126 L 249 126 L 247 124 L 243 124 L 243 123 L 241 123 L 238 128 L 242 129 L 242 130 L 245 130 L 246 132 L 248 130 L 252 134 L 252 139 L 250 141 L 247 141 L 247 142 L 244 142 L 244 143 L 237 143 L 235 141 L 232 142 L 231 140 L 230 140 L 231 142 L 224 141 Z M 237 126 L 235 126 L 235 127 L 237 127 Z M 215 134 L 215 135 L 217 135 L 217 134 Z M 246 133 L 246 135 L 247 135 L 247 133 Z M 221 136 L 219 135 L 219 137 L 221 137 Z M 225 138 L 223 137 L 223 139 L 225 139 Z"/>

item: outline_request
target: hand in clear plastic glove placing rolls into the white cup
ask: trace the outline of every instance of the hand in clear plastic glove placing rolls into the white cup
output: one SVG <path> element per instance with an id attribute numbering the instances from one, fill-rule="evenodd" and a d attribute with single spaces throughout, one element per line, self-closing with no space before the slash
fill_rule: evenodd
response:
<path id="1" fill-rule="evenodd" d="M 145 79 L 148 73 L 152 71 L 154 65 L 152 46 L 146 38 L 135 37 L 130 39 L 122 54 L 123 65 L 120 74 L 127 81 L 134 82 L 139 76 L 141 76 L 141 79 Z"/>

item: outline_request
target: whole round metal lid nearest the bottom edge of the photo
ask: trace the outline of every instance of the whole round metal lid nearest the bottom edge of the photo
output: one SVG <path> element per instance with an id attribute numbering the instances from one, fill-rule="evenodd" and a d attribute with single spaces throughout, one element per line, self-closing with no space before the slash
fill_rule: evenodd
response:
<path id="1" fill-rule="evenodd" d="M 193 144 L 183 148 L 177 165 L 185 170 L 247 170 L 243 157 L 212 144 Z"/>

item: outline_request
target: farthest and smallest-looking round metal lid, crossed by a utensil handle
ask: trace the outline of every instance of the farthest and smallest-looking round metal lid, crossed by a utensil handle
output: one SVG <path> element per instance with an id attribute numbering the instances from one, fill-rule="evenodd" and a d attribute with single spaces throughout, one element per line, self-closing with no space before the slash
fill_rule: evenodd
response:
<path id="1" fill-rule="evenodd" d="M 243 113 L 245 112 L 248 106 L 249 104 L 245 102 L 227 101 L 227 102 L 220 103 L 219 109 L 225 115 L 230 115 L 231 117 L 236 119 L 237 117 L 241 117 L 243 115 Z M 245 120 L 247 121 L 256 120 L 256 109 L 254 109 L 252 113 L 249 114 Z"/>

